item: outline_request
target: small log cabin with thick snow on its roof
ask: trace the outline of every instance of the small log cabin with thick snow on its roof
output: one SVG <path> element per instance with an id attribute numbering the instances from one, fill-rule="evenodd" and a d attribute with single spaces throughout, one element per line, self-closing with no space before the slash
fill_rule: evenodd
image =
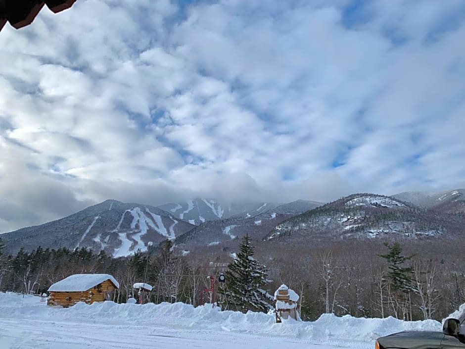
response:
<path id="1" fill-rule="evenodd" d="M 92 304 L 110 300 L 118 288 L 118 281 L 109 274 L 70 275 L 49 287 L 47 305 L 68 307 L 80 301 Z"/>

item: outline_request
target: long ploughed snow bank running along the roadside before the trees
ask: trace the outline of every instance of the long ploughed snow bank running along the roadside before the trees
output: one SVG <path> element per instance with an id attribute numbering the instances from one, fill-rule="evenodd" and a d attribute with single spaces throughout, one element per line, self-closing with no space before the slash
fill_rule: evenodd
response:
<path id="1" fill-rule="evenodd" d="M 275 323 L 272 315 L 248 312 L 220 311 L 211 304 L 194 308 L 184 303 L 116 304 L 111 301 L 78 303 L 70 308 L 55 308 L 40 302 L 39 297 L 0 293 L 0 318 L 41 319 L 66 322 L 100 322 L 131 324 L 141 318 L 146 325 L 215 332 L 248 333 L 262 336 L 308 339 L 313 343 L 331 340 L 370 341 L 401 331 L 441 331 L 434 320 L 405 322 L 393 317 L 385 319 L 337 317 L 324 314 L 314 322 L 292 319 Z"/>

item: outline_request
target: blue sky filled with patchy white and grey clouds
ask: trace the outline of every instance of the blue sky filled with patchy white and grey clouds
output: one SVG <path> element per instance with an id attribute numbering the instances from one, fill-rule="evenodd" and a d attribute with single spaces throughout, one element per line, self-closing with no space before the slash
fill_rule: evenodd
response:
<path id="1" fill-rule="evenodd" d="M 0 232 L 105 199 L 465 187 L 462 0 L 77 0 L 0 32 Z"/>

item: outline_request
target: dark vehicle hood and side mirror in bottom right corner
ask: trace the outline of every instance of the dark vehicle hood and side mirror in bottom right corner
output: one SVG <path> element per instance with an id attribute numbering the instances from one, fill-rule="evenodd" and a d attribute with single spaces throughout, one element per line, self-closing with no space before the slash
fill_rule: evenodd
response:
<path id="1" fill-rule="evenodd" d="M 376 340 L 375 349 L 465 349 L 460 321 L 446 319 L 441 332 L 399 332 Z"/>

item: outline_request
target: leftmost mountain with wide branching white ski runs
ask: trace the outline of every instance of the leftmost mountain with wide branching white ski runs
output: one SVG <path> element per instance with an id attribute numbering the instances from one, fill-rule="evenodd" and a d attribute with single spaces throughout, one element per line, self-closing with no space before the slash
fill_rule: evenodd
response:
<path id="1" fill-rule="evenodd" d="M 124 256 L 147 243 L 174 240 L 194 226 L 157 207 L 106 200 L 68 217 L 2 234 L 10 252 L 25 249 L 89 247 Z"/>

